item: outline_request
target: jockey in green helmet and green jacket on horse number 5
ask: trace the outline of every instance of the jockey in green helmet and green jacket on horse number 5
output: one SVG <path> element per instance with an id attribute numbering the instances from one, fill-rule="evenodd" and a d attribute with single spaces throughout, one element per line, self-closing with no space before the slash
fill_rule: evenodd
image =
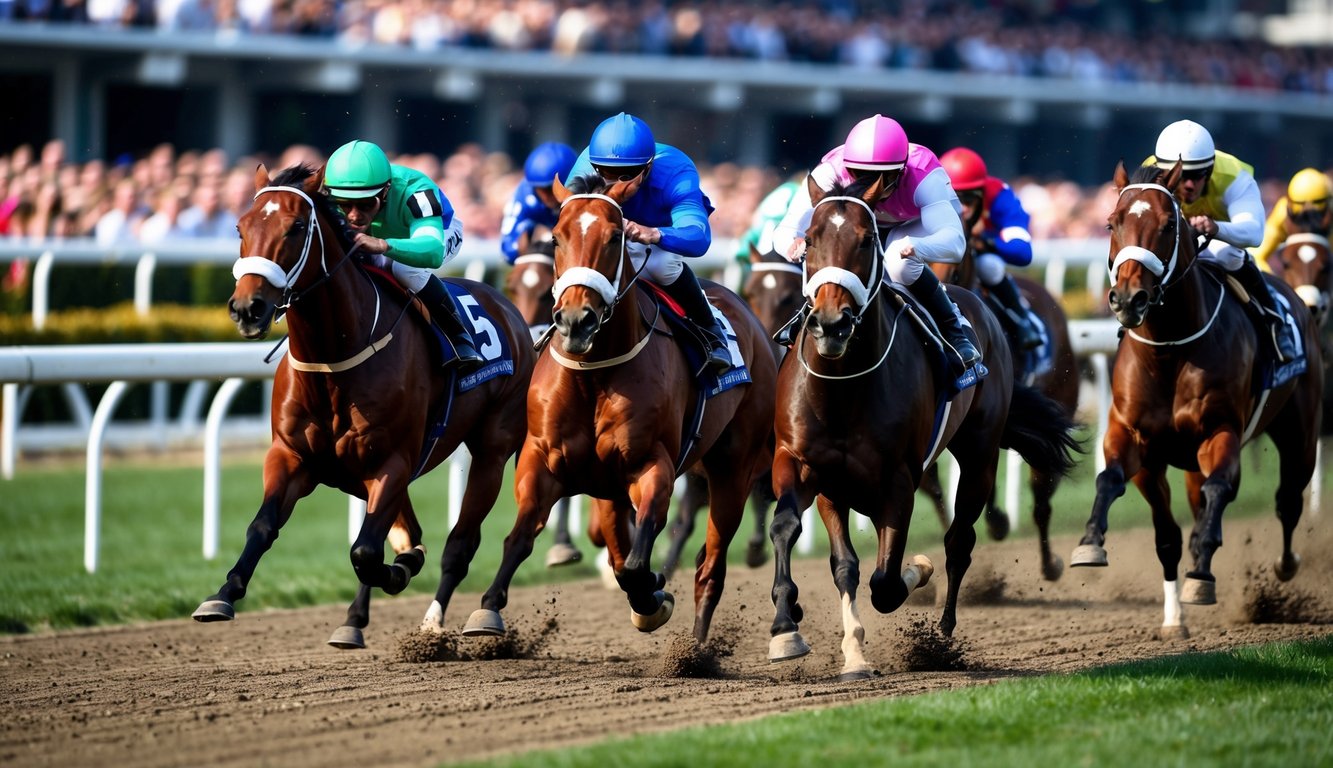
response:
<path id="1" fill-rule="evenodd" d="M 389 164 L 383 149 L 360 140 L 333 151 L 324 165 L 324 187 L 347 217 L 355 249 L 377 255 L 425 303 L 449 336 L 460 369 L 484 363 L 468 324 L 433 272 L 457 256 L 463 243 L 463 223 L 444 192 L 425 173 Z"/>

